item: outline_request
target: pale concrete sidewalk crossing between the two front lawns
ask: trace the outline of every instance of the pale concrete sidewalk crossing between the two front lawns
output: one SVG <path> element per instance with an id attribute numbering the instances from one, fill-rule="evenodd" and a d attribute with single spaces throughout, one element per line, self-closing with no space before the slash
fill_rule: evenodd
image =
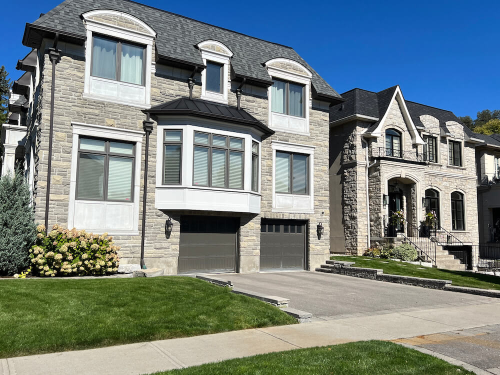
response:
<path id="1" fill-rule="evenodd" d="M 0 375 L 144 374 L 235 357 L 393 340 L 500 323 L 500 302 L 247 329 L 97 349 L 0 359 Z"/>

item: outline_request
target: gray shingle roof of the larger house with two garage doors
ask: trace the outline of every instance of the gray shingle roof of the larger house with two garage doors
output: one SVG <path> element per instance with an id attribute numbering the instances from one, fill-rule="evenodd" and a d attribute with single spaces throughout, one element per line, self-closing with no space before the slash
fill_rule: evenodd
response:
<path id="1" fill-rule="evenodd" d="M 262 64 L 271 58 L 289 58 L 303 64 L 312 72 L 313 91 L 321 96 L 341 99 L 293 48 L 129 0 L 66 0 L 31 24 L 27 24 L 23 42 L 29 45 L 30 28 L 55 30 L 83 39 L 85 28 L 80 15 L 93 9 L 123 11 L 147 23 L 157 33 L 155 44 L 160 57 L 204 66 L 201 53 L 195 45 L 207 39 L 218 40 L 234 53 L 231 68 L 237 76 L 269 82 L 270 77 Z"/>

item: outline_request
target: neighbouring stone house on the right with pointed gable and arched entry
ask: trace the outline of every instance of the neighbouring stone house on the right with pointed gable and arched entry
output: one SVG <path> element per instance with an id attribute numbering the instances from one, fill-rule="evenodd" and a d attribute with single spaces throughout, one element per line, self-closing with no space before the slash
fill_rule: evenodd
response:
<path id="1" fill-rule="evenodd" d="M 475 267 L 482 140 L 452 112 L 405 100 L 399 86 L 341 95 L 330 108 L 332 252 L 405 241 L 440 267 Z M 431 228 L 421 224 L 430 211 Z"/>

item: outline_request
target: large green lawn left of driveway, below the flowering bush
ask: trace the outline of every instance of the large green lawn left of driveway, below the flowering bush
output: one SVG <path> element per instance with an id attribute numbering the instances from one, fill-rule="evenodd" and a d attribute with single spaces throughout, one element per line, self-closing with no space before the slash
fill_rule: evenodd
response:
<path id="1" fill-rule="evenodd" d="M 295 322 L 192 277 L 0 280 L 0 358 Z"/>

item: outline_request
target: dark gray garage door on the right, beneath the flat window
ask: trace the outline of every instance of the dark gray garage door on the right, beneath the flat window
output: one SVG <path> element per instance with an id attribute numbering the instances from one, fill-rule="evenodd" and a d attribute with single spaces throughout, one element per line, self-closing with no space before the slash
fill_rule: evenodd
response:
<path id="1" fill-rule="evenodd" d="M 305 232 L 305 221 L 262 219 L 260 270 L 305 269 Z"/>

